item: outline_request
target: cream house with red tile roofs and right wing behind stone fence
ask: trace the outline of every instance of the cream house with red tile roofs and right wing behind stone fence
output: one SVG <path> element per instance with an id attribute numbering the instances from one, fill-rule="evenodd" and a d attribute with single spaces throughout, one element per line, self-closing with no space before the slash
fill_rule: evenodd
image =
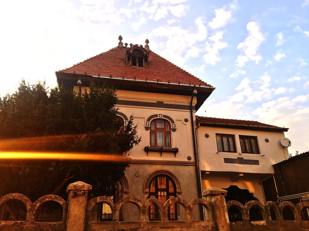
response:
<path id="1" fill-rule="evenodd" d="M 143 202 L 152 197 L 162 203 L 172 197 L 191 201 L 214 186 L 229 192 L 226 200 L 265 203 L 262 182 L 273 177 L 272 164 L 288 157 L 280 145 L 288 128 L 195 116 L 215 88 L 151 51 L 148 39 L 145 46 L 129 47 L 118 39 L 117 47 L 56 71 L 58 84 L 79 94 L 90 81 L 113 84 L 119 118 L 125 126 L 133 115 L 138 124 L 142 142 L 131 150 L 125 177 L 102 195 L 115 202 L 126 196 Z M 125 206 L 122 219 L 138 219 L 136 207 Z M 203 209 L 195 209 L 195 219 L 203 219 Z M 170 220 L 185 217 L 178 204 L 168 213 Z M 155 205 L 148 218 L 160 220 Z M 91 219 L 112 220 L 109 206 L 97 205 Z"/>

